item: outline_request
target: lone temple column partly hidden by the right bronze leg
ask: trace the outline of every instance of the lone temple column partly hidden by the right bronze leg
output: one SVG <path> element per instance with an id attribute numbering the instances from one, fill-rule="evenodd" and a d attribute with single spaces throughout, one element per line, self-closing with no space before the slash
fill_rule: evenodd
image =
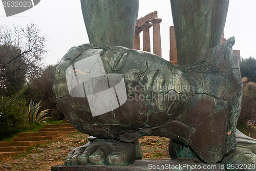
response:
<path id="1" fill-rule="evenodd" d="M 174 26 L 170 26 L 170 62 L 178 63 Z"/>

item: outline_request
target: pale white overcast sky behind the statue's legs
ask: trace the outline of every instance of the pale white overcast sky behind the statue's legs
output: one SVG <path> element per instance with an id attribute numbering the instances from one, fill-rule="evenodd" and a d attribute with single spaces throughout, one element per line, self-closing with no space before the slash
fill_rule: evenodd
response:
<path id="1" fill-rule="evenodd" d="M 129 0 L 127 0 L 129 1 Z M 162 39 L 162 57 L 169 60 L 169 26 L 173 26 L 169 0 L 139 0 L 139 16 L 158 11 Z M 236 37 L 233 49 L 239 49 L 243 58 L 256 57 L 256 1 L 230 0 L 225 25 L 225 38 Z M 6 17 L 0 4 L 0 24 L 26 26 L 37 24 L 42 34 L 49 39 L 46 64 L 55 64 L 73 46 L 88 44 L 86 28 L 83 23 L 80 0 L 41 0 L 34 8 L 14 16 Z M 151 29 L 152 30 L 152 29 Z"/>

